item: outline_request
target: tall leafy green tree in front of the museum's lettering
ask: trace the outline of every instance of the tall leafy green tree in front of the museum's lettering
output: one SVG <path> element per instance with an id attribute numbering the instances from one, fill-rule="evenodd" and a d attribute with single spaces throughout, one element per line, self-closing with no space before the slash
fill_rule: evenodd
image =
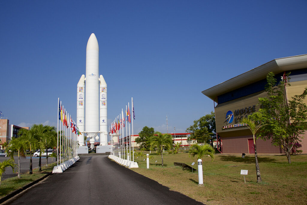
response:
<path id="1" fill-rule="evenodd" d="M 307 106 L 304 103 L 307 88 L 301 95 L 287 99 L 284 93 L 290 86 L 289 74 L 278 84 L 273 72 L 268 73 L 266 80 L 267 97 L 259 98 L 262 107 L 253 114 L 255 120 L 266 123 L 258 136 L 264 140 L 272 139 L 274 146 L 283 149 L 290 164 L 293 145 L 301 141 L 300 137 L 307 129 Z"/>

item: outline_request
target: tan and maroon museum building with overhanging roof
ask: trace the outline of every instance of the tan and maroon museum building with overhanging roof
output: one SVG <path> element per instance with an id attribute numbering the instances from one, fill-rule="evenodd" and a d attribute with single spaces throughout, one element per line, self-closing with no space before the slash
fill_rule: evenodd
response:
<path id="1" fill-rule="evenodd" d="M 274 72 L 277 82 L 290 72 L 290 85 L 286 87 L 287 99 L 301 95 L 307 87 L 307 54 L 274 59 L 257 68 L 202 91 L 214 101 L 216 133 L 223 142 L 222 153 L 255 153 L 251 131 L 240 123 L 240 118 L 259 110 L 259 97 L 265 97 L 266 75 Z M 217 104 L 216 104 L 217 103 Z M 304 103 L 307 104 L 307 99 Z M 299 142 L 302 153 L 307 153 L 307 132 Z M 271 140 L 256 140 L 257 153 L 284 153 Z"/>

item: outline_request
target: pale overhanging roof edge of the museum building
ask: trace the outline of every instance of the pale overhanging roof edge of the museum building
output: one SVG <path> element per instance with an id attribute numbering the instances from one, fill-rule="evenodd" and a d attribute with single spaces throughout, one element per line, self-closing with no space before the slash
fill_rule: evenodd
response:
<path id="1" fill-rule="evenodd" d="M 202 93 L 208 98 L 216 100 L 216 97 L 219 95 L 265 79 L 268 72 L 274 72 L 275 74 L 278 74 L 284 71 L 297 70 L 302 68 L 307 68 L 307 54 L 278 58 L 258 66 L 257 68 L 253 68 L 234 78 L 226 80 L 225 82 L 216 86 L 208 88 L 207 90 L 202 91 Z"/>

